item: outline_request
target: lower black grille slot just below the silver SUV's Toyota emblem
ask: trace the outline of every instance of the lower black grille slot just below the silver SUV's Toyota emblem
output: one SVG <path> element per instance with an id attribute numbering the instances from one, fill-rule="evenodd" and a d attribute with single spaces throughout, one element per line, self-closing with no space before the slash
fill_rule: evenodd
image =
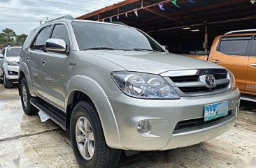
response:
<path id="1" fill-rule="evenodd" d="M 205 92 L 205 91 L 215 91 L 218 89 L 224 89 L 227 87 L 229 83 L 227 84 L 219 84 L 215 88 L 207 88 L 206 86 L 199 86 L 199 87 L 180 87 L 180 91 L 183 91 L 184 93 L 195 93 L 195 92 Z"/>

